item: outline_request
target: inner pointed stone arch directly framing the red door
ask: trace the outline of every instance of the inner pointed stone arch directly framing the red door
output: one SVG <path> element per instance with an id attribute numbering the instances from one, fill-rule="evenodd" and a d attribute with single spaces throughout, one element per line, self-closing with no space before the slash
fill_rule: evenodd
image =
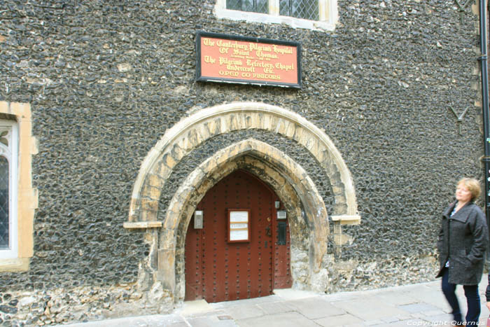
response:
<path id="1" fill-rule="evenodd" d="M 324 290 L 323 284 L 313 285 L 312 280 L 321 270 L 321 261 L 327 250 L 330 228 L 325 204 L 314 182 L 297 162 L 279 149 L 255 139 L 239 141 L 214 153 L 189 174 L 172 197 L 158 246 L 158 262 L 162 263 L 158 274 L 163 286 L 174 291 L 176 299 L 183 299 L 183 251 L 195 207 L 209 189 L 236 169 L 246 169 L 258 176 L 286 204 L 295 286 Z M 304 230 L 307 230 L 306 235 Z M 307 263 L 302 266 L 300 258 L 308 258 Z M 302 277 L 297 278 L 301 274 Z"/>

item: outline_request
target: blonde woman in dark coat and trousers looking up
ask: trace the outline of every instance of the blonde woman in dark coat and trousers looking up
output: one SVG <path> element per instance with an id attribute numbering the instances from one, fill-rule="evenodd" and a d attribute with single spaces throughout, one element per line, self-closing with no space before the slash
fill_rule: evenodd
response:
<path id="1" fill-rule="evenodd" d="M 478 324 L 480 304 L 478 283 L 482 278 L 488 228 L 482 210 L 474 203 L 481 189 L 476 179 L 461 179 L 456 186 L 456 201 L 442 214 L 437 241 L 442 292 L 451 305 L 454 321 L 463 324 L 456 285 L 463 285 L 468 312 L 466 324 Z"/>

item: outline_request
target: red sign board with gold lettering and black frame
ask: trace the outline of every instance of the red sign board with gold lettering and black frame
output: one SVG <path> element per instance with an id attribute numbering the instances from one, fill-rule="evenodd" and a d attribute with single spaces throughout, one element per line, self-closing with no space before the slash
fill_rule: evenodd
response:
<path id="1" fill-rule="evenodd" d="M 301 88 L 300 43 L 198 32 L 197 81 Z"/>

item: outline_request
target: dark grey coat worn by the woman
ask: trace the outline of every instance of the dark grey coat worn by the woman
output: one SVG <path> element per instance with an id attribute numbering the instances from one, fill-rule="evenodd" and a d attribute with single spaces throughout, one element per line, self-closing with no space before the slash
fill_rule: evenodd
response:
<path id="1" fill-rule="evenodd" d="M 468 202 L 452 217 L 453 202 L 442 214 L 442 226 L 437 241 L 440 270 L 449 260 L 449 283 L 476 285 L 482 278 L 486 244 L 489 230 L 482 210 Z"/>

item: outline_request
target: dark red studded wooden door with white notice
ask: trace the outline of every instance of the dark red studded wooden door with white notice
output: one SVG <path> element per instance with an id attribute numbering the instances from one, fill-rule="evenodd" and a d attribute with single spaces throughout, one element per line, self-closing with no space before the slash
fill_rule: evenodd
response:
<path id="1" fill-rule="evenodd" d="M 242 169 L 204 195 L 202 224 L 191 221 L 186 235 L 186 300 L 258 298 L 292 285 L 288 222 L 278 219 L 276 201 Z"/>

